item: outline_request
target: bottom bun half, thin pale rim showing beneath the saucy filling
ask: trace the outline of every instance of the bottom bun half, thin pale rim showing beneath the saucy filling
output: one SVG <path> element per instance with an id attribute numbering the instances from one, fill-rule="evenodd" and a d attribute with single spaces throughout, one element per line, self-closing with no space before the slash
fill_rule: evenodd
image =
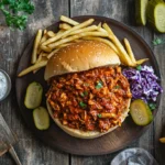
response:
<path id="1" fill-rule="evenodd" d="M 128 109 L 127 109 L 127 110 L 122 113 L 122 116 L 121 116 L 121 122 L 123 122 L 124 119 L 128 117 L 129 107 L 130 107 L 130 101 L 131 101 L 131 100 L 129 100 L 129 102 L 128 102 Z M 46 105 L 47 105 L 48 113 L 50 113 L 50 116 L 52 117 L 52 119 L 54 120 L 54 122 L 55 122 L 63 131 L 65 131 L 66 133 L 68 133 L 68 134 L 72 135 L 72 136 L 75 136 L 75 138 L 79 138 L 79 139 L 95 139 L 95 138 L 99 138 L 99 136 L 101 136 L 101 135 L 103 135 L 103 134 L 107 134 L 107 133 L 109 133 L 109 132 L 111 132 L 111 131 L 113 131 L 114 129 L 118 128 L 118 125 L 116 125 L 116 127 L 109 129 L 107 132 L 103 132 L 103 133 L 101 133 L 101 132 L 99 132 L 99 131 L 81 131 L 81 130 L 78 130 L 78 129 L 72 129 L 72 128 L 68 128 L 68 127 L 62 124 L 61 121 L 59 121 L 59 119 L 55 119 L 55 118 L 53 117 L 53 111 L 52 111 L 52 108 L 51 108 L 48 101 L 46 101 Z"/>

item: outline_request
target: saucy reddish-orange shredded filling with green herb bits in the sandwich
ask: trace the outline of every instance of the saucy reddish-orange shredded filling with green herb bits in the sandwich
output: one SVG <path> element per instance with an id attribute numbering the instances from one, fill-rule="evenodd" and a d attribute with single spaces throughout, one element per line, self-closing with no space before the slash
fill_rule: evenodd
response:
<path id="1" fill-rule="evenodd" d="M 106 132 L 121 125 L 132 97 L 121 67 L 101 67 L 50 80 L 47 100 L 54 118 L 69 128 Z"/>

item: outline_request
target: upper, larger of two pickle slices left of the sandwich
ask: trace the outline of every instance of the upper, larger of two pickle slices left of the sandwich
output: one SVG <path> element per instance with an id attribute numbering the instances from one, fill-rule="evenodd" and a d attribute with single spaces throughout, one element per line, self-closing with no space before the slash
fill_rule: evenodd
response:
<path id="1" fill-rule="evenodd" d="M 43 95 L 43 87 L 41 84 L 34 81 L 26 88 L 24 105 L 28 109 L 37 108 L 41 105 Z"/>

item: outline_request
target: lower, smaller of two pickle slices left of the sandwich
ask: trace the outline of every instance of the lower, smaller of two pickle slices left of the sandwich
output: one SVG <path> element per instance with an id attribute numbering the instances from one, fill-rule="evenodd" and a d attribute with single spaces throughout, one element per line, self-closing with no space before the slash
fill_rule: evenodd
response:
<path id="1" fill-rule="evenodd" d="M 38 107 L 33 110 L 33 120 L 38 130 L 47 130 L 50 128 L 50 116 L 44 107 Z"/>

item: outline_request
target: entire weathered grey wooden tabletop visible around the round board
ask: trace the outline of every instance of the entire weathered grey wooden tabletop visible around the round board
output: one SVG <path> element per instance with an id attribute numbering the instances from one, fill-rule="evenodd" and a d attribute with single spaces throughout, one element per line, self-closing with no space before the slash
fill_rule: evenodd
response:
<path id="1" fill-rule="evenodd" d="M 10 128 L 18 134 L 15 145 L 23 165 L 109 165 L 118 154 L 103 156 L 75 156 L 52 150 L 38 141 L 29 130 L 19 112 L 15 98 L 15 73 L 19 59 L 31 37 L 38 29 L 44 29 L 59 19 L 59 15 L 103 15 L 123 22 L 135 30 L 150 44 L 158 61 L 165 86 L 165 45 L 154 47 L 152 41 L 156 37 L 165 38 L 165 34 L 156 34 L 150 28 L 135 26 L 134 0 L 33 0 L 34 14 L 30 16 L 26 30 L 12 31 L 6 26 L 0 14 L 0 68 L 4 69 L 12 79 L 10 96 L 0 103 L 0 111 Z M 165 164 L 165 147 L 160 144 L 165 124 L 165 96 L 158 113 L 150 129 L 128 147 L 143 147 L 147 150 L 161 165 Z M 14 165 L 9 154 L 0 157 L 0 165 Z"/>

